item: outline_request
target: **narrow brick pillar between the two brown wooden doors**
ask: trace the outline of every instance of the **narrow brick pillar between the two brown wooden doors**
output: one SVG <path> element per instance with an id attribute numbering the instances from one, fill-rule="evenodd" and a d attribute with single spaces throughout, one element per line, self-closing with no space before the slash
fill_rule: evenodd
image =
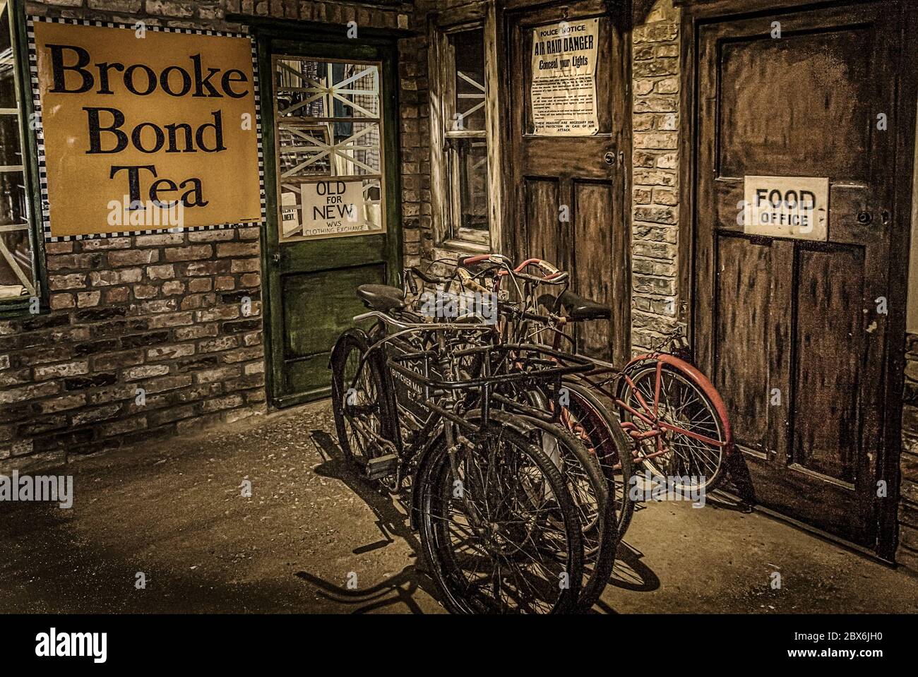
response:
<path id="1" fill-rule="evenodd" d="M 679 14 L 659 0 L 632 38 L 632 350 L 676 324 Z"/>

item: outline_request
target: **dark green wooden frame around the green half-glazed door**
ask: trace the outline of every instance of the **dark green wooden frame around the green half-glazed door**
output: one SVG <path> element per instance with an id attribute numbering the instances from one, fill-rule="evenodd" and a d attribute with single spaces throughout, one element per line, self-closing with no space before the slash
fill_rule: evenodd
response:
<path id="1" fill-rule="evenodd" d="M 252 23 L 252 21 L 249 20 L 249 23 Z M 269 407 L 276 409 L 303 404 L 316 398 L 308 394 L 285 396 L 275 394 L 276 385 L 280 383 L 282 374 L 279 373 L 280 370 L 274 361 L 274 355 L 283 350 L 282 345 L 279 344 L 279 341 L 282 341 L 283 338 L 274 336 L 272 331 L 272 313 L 276 312 L 280 306 L 279 299 L 276 298 L 277 294 L 274 294 L 271 290 L 271 277 L 274 269 L 274 254 L 279 251 L 280 242 L 274 237 L 274 228 L 278 227 L 278 205 L 275 190 L 277 158 L 274 149 L 272 52 L 269 50 L 269 44 L 274 40 L 298 42 L 315 47 L 316 56 L 321 58 L 327 55 L 322 53 L 323 50 L 341 49 L 342 28 L 313 22 L 265 20 L 254 22 L 252 32 L 258 50 L 258 70 L 260 73 L 259 94 L 261 100 L 259 101 L 259 111 L 262 121 L 264 193 L 267 214 L 267 222 L 263 225 L 261 232 L 264 387 Z M 397 284 L 402 261 L 401 172 L 399 171 L 400 118 L 398 115 L 398 50 L 396 40 L 407 35 L 413 34 L 403 30 L 361 29 L 362 39 L 350 40 L 351 44 L 348 45 L 348 47 L 356 49 L 364 48 L 382 52 L 378 58 L 372 57 L 365 60 L 380 61 L 382 63 L 380 83 L 384 94 L 380 97 L 380 103 L 382 105 L 381 119 L 384 121 L 385 166 L 383 173 L 386 175 L 386 182 L 390 184 L 386 192 L 393 195 L 393 199 L 386 204 L 386 251 L 384 252 L 386 261 L 393 261 L 392 265 L 386 266 L 386 283 L 390 284 Z M 308 36 L 308 40 L 304 39 L 304 36 Z M 360 56 L 353 58 L 358 61 L 364 61 L 364 58 Z M 388 130 L 385 128 L 386 120 L 391 120 L 392 123 L 390 125 L 391 128 Z M 274 226 L 272 226 L 272 220 L 274 220 Z"/>

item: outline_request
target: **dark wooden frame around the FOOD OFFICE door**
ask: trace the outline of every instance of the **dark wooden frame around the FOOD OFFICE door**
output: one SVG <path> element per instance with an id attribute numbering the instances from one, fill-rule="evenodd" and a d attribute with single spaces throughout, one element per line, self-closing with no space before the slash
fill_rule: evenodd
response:
<path id="1" fill-rule="evenodd" d="M 698 175 L 698 58 L 699 32 L 706 24 L 738 19 L 768 16 L 780 17 L 791 12 L 818 11 L 820 9 L 865 5 L 886 2 L 900 12 L 899 62 L 895 71 L 900 80 L 896 90 L 896 109 L 890 119 L 895 125 L 894 148 L 895 185 L 893 219 L 890 226 L 890 252 L 909 251 L 912 217 L 912 172 L 914 170 L 915 106 L 918 99 L 918 80 L 914 64 L 918 63 L 918 43 L 907 40 L 918 29 L 918 6 L 898 0 L 674 0 L 681 9 L 680 22 L 680 92 L 679 105 L 679 235 L 678 235 L 678 294 L 684 308 L 679 319 L 686 323 L 689 341 L 694 345 L 695 290 L 694 270 L 696 241 L 696 188 Z M 885 354 L 887 363 L 883 370 L 886 416 L 882 425 L 882 444 L 877 460 L 878 480 L 888 480 L 887 498 L 879 505 L 877 542 L 874 551 L 882 560 L 894 561 L 898 544 L 897 517 L 900 493 L 900 455 L 902 388 L 905 368 L 905 316 L 908 293 L 908 260 L 906 257 L 889 257 L 890 315 L 887 319 Z M 795 524 L 800 525 L 798 522 Z M 805 525 L 800 525 L 806 527 Z M 817 529 L 818 530 L 818 529 Z M 823 532 L 820 532 L 823 533 Z M 841 540 L 829 534 L 828 538 Z M 846 545 L 850 545 L 844 541 Z M 859 549 L 856 547 L 856 549 Z"/>

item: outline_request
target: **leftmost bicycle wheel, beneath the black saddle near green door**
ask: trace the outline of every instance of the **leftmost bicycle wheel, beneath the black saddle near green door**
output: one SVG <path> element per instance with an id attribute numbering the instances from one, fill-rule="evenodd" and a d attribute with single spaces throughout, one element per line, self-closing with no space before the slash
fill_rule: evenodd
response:
<path id="1" fill-rule="evenodd" d="M 369 342 L 348 329 L 331 351 L 331 406 L 344 457 L 364 472 L 371 459 L 397 453 L 396 416 L 384 386 L 381 359 L 364 360 Z"/>

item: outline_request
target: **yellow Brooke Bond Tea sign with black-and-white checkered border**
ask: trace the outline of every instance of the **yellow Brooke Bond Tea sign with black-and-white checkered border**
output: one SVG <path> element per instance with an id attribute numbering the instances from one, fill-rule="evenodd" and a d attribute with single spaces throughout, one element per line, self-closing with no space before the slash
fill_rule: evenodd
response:
<path id="1" fill-rule="evenodd" d="M 251 39 L 29 25 L 47 238 L 262 221 Z"/>

